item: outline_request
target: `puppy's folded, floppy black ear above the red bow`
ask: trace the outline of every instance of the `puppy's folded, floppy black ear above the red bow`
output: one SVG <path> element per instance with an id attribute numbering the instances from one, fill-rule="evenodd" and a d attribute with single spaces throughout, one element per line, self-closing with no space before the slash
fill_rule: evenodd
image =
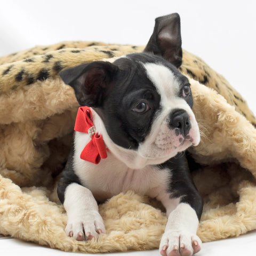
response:
<path id="1" fill-rule="evenodd" d="M 65 84 L 74 88 L 81 106 L 100 107 L 108 84 L 113 80 L 118 67 L 105 61 L 95 61 L 60 72 Z"/>

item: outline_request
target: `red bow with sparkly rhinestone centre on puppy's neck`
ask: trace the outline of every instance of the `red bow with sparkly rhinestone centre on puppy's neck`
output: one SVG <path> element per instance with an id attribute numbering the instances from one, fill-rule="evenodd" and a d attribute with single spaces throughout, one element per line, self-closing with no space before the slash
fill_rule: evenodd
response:
<path id="1" fill-rule="evenodd" d="M 89 133 L 91 140 L 83 149 L 80 158 L 98 164 L 101 158 L 107 158 L 107 150 L 102 135 L 95 133 L 92 110 L 89 107 L 78 108 L 74 130 Z"/>

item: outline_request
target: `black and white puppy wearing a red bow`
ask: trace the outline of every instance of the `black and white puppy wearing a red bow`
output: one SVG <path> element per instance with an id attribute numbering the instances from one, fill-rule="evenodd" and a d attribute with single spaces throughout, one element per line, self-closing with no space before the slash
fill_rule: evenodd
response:
<path id="1" fill-rule="evenodd" d="M 133 190 L 166 208 L 162 255 L 201 249 L 196 231 L 203 202 L 184 154 L 200 136 L 181 62 L 180 17 L 171 14 L 156 19 L 143 53 L 61 71 L 84 106 L 58 185 L 68 236 L 84 241 L 105 233 L 97 201 Z"/>

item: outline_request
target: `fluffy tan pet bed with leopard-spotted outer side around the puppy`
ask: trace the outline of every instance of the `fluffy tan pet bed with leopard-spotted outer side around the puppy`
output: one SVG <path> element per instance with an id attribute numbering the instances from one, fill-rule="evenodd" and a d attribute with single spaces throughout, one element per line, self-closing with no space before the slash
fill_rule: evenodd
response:
<path id="1" fill-rule="evenodd" d="M 59 71 L 142 50 L 65 42 L 0 58 L 0 234 L 64 251 L 159 246 L 166 223 L 159 203 L 119 194 L 99 207 L 107 234 L 78 242 L 65 234 L 67 216 L 55 189 L 78 108 Z M 204 197 L 198 236 L 206 242 L 246 233 L 256 228 L 255 118 L 241 95 L 198 57 L 183 51 L 180 70 L 190 77 L 202 138 L 189 149 L 199 164 L 193 177 Z"/>

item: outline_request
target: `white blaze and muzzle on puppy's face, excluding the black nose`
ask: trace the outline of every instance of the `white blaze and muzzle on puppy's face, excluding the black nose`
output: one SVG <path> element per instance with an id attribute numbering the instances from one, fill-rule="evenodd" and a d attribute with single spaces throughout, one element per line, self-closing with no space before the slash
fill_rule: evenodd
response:
<path id="1" fill-rule="evenodd" d="M 149 79 L 161 96 L 159 113 L 153 121 L 150 133 L 139 146 L 138 152 L 146 158 L 170 158 L 191 145 L 198 145 L 200 136 L 195 115 L 188 103 L 180 97 L 182 85 L 172 71 L 162 65 L 144 65 Z M 184 109 L 190 118 L 191 129 L 186 138 L 170 128 L 170 113 L 173 109 Z M 178 134 L 178 135 L 177 135 Z"/>

